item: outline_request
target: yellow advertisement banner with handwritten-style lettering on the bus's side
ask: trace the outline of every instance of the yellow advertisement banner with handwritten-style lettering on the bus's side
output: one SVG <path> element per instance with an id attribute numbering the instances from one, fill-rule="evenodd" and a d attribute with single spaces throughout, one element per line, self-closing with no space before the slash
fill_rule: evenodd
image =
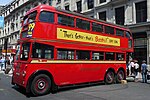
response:
<path id="1" fill-rule="evenodd" d="M 95 35 L 86 32 L 57 28 L 57 39 L 89 42 L 111 46 L 120 46 L 120 39 L 109 36 Z"/>

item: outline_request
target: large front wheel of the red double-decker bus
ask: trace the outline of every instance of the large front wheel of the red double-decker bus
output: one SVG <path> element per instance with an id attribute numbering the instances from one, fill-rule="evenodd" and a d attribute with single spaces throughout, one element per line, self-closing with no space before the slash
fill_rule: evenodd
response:
<path id="1" fill-rule="evenodd" d="M 33 79 L 31 84 L 31 92 L 34 96 L 47 94 L 50 89 L 51 79 L 47 75 L 40 74 Z"/>

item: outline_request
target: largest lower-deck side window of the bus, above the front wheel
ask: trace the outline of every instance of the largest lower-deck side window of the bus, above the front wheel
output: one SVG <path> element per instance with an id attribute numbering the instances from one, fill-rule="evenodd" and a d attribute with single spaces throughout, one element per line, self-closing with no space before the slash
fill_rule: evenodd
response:
<path id="1" fill-rule="evenodd" d="M 42 48 L 41 48 L 42 47 Z M 32 58 L 53 59 L 54 47 L 46 44 L 34 43 Z"/>

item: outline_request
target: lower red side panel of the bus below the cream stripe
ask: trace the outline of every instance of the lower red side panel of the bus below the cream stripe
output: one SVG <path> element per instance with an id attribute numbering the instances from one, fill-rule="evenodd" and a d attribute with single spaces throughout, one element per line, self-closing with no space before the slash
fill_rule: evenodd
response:
<path id="1" fill-rule="evenodd" d="M 31 74 L 36 70 L 49 71 L 54 82 L 58 86 L 103 81 L 105 73 L 109 68 L 117 69 L 121 67 L 120 64 L 32 64 L 28 67 L 26 74 L 26 82 Z M 125 66 L 122 66 L 125 67 Z"/>

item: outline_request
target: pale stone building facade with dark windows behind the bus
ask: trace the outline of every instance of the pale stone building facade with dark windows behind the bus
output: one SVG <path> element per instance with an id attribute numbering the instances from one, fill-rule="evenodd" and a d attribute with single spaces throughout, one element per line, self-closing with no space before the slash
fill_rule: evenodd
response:
<path id="1" fill-rule="evenodd" d="M 8 47 L 15 47 L 24 14 L 40 4 L 129 27 L 134 37 L 134 58 L 150 64 L 150 0 L 14 0 L 0 13 L 5 17 L 4 30 L 0 31 L 1 49 L 6 37 Z"/>

